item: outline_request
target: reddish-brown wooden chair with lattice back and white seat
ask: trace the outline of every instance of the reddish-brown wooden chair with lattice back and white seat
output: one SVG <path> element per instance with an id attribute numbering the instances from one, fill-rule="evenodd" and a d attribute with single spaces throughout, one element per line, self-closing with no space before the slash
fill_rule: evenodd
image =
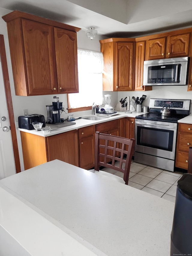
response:
<path id="1" fill-rule="evenodd" d="M 118 181 L 128 185 L 131 159 L 134 153 L 135 139 L 95 133 L 95 171 L 103 172 L 107 176 L 116 177 Z M 125 167 L 124 167 L 125 164 Z M 108 167 L 124 173 L 123 179 L 104 171 L 99 167 Z M 119 179 L 120 178 L 120 179 Z"/>

